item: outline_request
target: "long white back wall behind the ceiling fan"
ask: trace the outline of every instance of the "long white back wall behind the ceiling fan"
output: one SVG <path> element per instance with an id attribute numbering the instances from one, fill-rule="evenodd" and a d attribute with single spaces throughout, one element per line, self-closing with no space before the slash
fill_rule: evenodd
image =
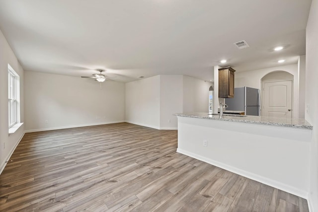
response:
<path id="1" fill-rule="evenodd" d="M 101 87 L 100 87 L 101 85 Z M 125 84 L 25 71 L 27 131 L 61 129 L 125 120 Z"/>

